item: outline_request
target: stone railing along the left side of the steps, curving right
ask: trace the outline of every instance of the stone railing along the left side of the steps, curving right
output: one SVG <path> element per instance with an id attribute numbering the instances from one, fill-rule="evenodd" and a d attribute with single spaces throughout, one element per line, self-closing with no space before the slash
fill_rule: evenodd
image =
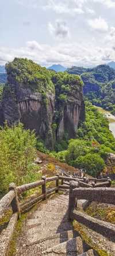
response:
<path id="1" fill-rule="evenodd" d="M 63 174 L 63 176 L 56 175 L 53 177 L 43 176 L 39 181 L 24 184 L 19 187 L 16 187 L 14 183 L 9 185 L 9 192 L 0 200 L 0 220 L 2 220 L 2 217 L 4 216 L 6 210 L 9 209 L 9 207 L 12 209 L 12 216 L 10 218 L 9 224 L 7 225 L 6 229 L 3 229 L 0 235 L 1 256 L 5 256 L 7 254 L 17 220 L 20 218 L 21 213 L 28 212 L 28 210 L 30 210 L 34 205 L 47 199 L 47 197 L 52 193 L 57 193 L 62 189 L 69 189 L 70 181 L 76 180 L 72 177 L 67 177 L 67 175 L 64 175 L 65 174 Z M 53 183 L 53 187 L 48 188 L 47 183 L 51 183 L 51 181 L 54 181 L 55 184 Z M 21 203 L 20 195 L 25 191 L 31 190 L 33 188 L 40 188 L 41 194 L 36 195 L 34 198 L 30 196 L 28 202 Z"/>

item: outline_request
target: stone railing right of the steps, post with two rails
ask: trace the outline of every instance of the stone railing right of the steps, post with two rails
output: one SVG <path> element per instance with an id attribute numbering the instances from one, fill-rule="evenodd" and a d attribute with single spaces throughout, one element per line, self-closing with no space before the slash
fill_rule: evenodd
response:
<path id="1" fill-rule="evenodd" d="M 106 183 L 107 181 L 105 181 Z M 100 183 L 102 184 L 102 183 Z M 101 233 L 110 240 L 115 241 L 115 225 L 109 222 L 98 220 L 88 216 L 86 213 L 77 210 L 77 201 L 85 199 L 86 201 L 96 201 L 99 203 L 108 203 L 115 205 L 115 188 L 95 187 L 81 188 L 79 182 L 70 182 L 70 194 L 68 213 L 71 221 L 76 220 L 86 225 L 88 228 Z"/>

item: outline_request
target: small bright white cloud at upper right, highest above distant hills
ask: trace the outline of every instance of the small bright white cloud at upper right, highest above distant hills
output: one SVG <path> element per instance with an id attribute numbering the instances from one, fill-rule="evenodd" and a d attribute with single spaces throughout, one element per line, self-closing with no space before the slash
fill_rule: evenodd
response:
<path id="1" fill-rule="evenodd" d="M 108 31 L 108 23 L 104 20 L 104 18 L 93 18 L 87 21 L 89 26 L 94 30 L 106 32 Z"/>

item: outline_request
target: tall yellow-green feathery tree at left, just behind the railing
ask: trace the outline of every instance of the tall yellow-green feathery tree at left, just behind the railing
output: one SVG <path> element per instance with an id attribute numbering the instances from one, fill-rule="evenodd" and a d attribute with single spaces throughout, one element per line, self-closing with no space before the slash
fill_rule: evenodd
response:
<path id="1" fill-rule="evenodd" d="M 9 183 L 17 185 L 29 180 L 36 151 L 34 132 L 24 130 L 22 124 L 0 131 L 0 190 L 6 191 Z"/>

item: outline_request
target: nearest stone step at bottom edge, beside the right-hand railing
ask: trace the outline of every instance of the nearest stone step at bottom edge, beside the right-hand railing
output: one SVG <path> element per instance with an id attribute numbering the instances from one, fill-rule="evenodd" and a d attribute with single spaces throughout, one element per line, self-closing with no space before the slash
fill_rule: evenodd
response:
<path id="1" fill-rule="evenodd" d="M 83 243 L 80 236 L 74 239 L 70 239 L 67 242 L 57 244 L 57 246 L 53 246 L 52 248 L 48 248 L 48 250 L 43 252 L 43 255 L 48 256 L 76 256 L 78 254 L 83 253 Z"/>

